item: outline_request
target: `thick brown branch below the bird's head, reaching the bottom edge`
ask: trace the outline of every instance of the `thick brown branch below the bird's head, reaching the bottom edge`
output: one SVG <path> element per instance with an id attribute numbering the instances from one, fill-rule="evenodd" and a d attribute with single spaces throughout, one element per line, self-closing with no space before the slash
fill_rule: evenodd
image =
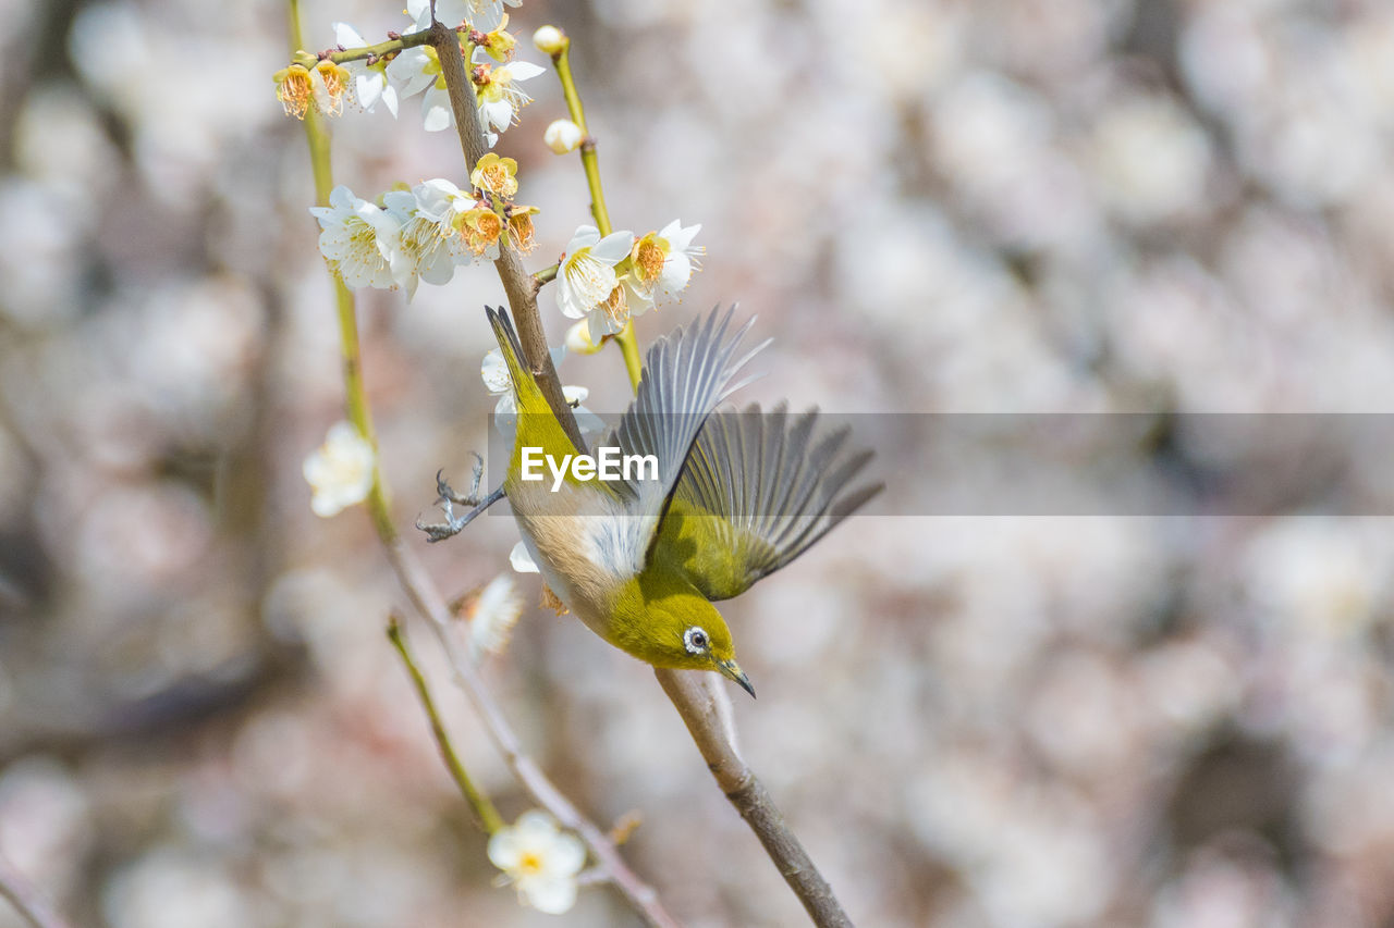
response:
<path id="1" fill-rule="evenodd" d="M 721 680 L 705 670 L 657 669 L 654 676 L 687 725 L 707 768 L 717 778 L 717 786 L 765 846 L 769 860 L 803 903 L 813 924 L 850 928 L 852 920 L 842 911 L 832 886 L 785 823 L 764 783 L 736 751 L 730 705 L 726 694 L 717 688 L 722 686 Z"/>

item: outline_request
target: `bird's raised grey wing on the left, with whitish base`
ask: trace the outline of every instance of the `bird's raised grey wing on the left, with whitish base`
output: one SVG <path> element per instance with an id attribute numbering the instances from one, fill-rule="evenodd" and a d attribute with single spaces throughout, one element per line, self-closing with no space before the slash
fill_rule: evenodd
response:
<path id="1" fill-rule="evenodd" d="M 722 400 L 754 379 L 732 382 L 769 344 L 767 340 L 739 354 L 740 340 L 754 318 L 732 330 L 735 309 L 712 309 L 654 343 L 634 401 L 601 443 L 619 447 L 626 456 L 652 454 L 658 461 L 657 479 L 638 468 L 633 479 L 611 485 L 619 490 L 630 517 L 625 520 L 625 539 L 616 542 L 626 549 L 636 573 L 648 562 L 657 528 L 703 422 Z"/>

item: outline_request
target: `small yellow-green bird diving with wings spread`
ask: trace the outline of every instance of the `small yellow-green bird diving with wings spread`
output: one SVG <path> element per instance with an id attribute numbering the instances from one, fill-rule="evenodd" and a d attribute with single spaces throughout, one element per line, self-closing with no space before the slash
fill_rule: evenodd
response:
<path id="1" fill-rule="evenodd" d="M 733 312 L 714 309 L 650 348 L 633 404 L 597 444 L 636 456 L 623 471 L 629 479 L 618 481 L 566 467 L 566 456 L 583 449 L 523 364 L 507 314 L 488 315 L 519 410 L 500 490 L 548 588 L 591 631 L 640 660 L 717 670 L 754 695 L 712 601 L 792 562 L 882 486 L 849 488 L 871 451 L 848 450 L 845 428 L 815 436 L 815 411 L 790 417 L 783 404 L 768 414 L 751 404 L 714 415 L 753 379 L 732 383 L 768 344 L 737 357 L 754 320 L 730 332 Z M 640 464 L 650 457 L 657 467 Z M 551 461 L 545 479 L 539 458 Z"/>

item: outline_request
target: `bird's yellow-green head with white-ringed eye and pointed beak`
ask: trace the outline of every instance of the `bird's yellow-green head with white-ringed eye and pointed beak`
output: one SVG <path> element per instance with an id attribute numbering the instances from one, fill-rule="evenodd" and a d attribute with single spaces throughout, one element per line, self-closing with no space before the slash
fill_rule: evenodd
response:
<path id="1" fill-rule="evenodd" d="M 641 641 L 626 651 L 659 667 L 715 670 L 756 695 L 750 677 L 736 663 L 726 620 L 696 591 L 645 596 L 641 616 L 636 617 Z"/>

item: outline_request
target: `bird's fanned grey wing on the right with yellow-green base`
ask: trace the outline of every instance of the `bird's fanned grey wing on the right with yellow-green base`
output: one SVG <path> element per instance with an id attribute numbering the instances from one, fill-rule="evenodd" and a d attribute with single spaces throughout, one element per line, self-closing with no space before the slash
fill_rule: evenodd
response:
<path id="1" fill-rule="evenodd" d="M 846 426 L 817 433 L 817 410 L 707 418 L 673 490 L 655 548 L 708 599 L 729 599 L 779 570 L 884 489 L 853 478 L 870 450 Z"/>

